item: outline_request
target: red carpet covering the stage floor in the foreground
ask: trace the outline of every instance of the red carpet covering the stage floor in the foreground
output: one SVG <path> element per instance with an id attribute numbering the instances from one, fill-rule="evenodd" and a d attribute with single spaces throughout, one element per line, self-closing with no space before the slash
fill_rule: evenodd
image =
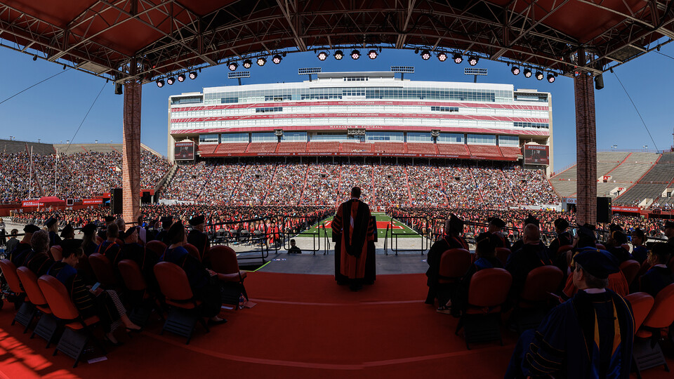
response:
<path id="1" fill-rule="evenodd" d="M 374 286 L 354 293 L 328 275 L 250 272 L 246 289 L 256 306 L 226 312 L 229 322 L 211 333 L 199 326 L 190 345 L 159 335 L 161 323 L 152 321 L 133 338 L 121 335 L 123 346 L 106 346 L 106 361 L 77 368 L 63 354 L 52 357 L 44 340 L 11 326 L 13 307 L 6 303 L 0 377 L 502 378 L 517 338 L 503 331 L 505 346 L 466 350 L 454 335 L 457 319 L 423 304 L 423 274 L 380 275 Z M 662 368 L 642 373 L 669 374 Z"/>

